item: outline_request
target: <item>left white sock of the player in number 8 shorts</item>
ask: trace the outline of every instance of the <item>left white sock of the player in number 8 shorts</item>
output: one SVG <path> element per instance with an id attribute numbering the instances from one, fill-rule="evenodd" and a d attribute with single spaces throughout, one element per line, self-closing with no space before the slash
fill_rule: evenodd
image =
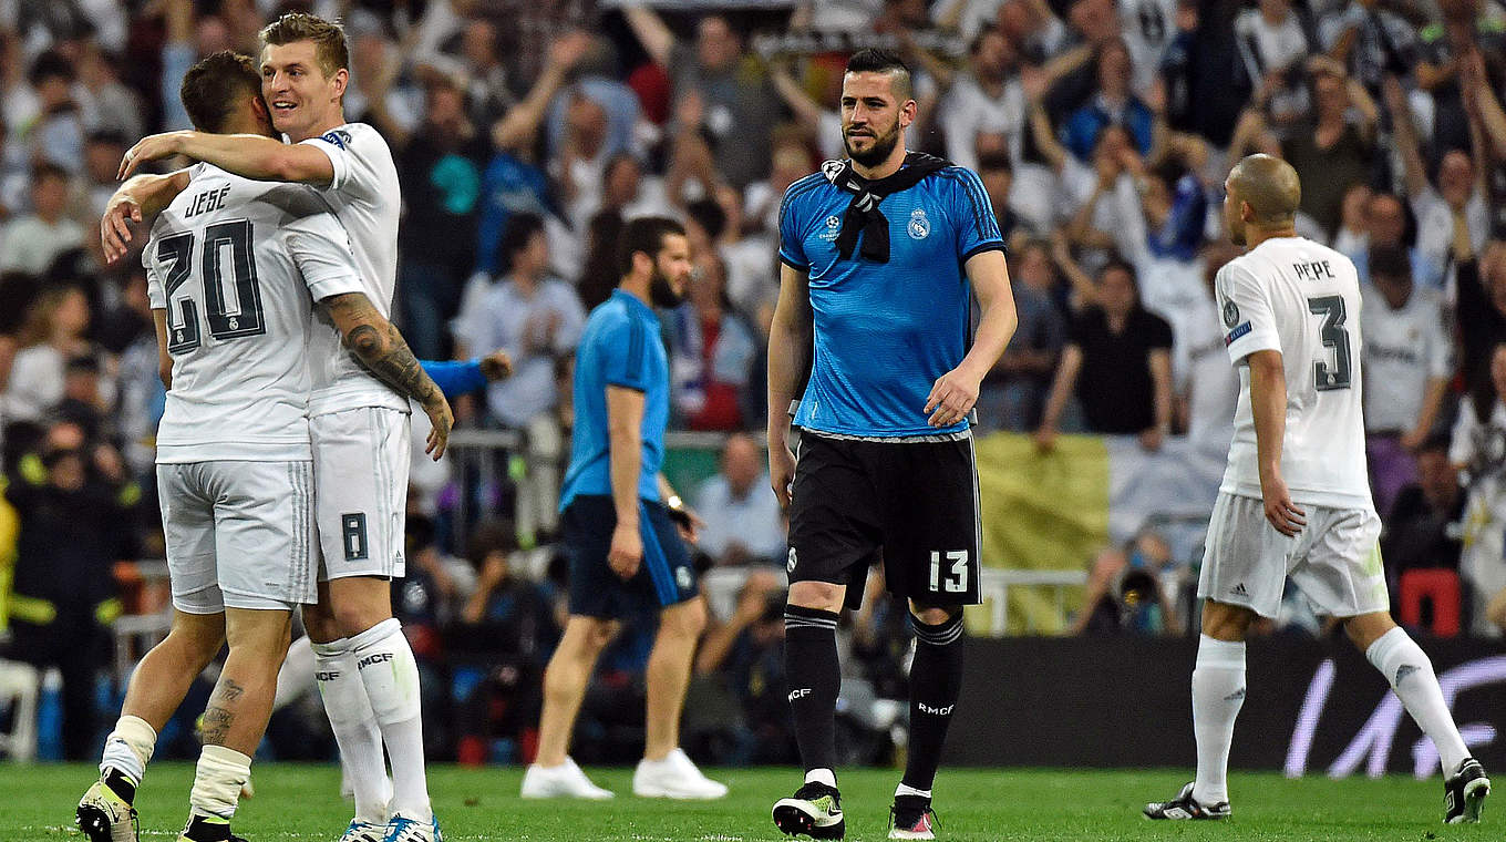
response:
<path id="1" fill-rule="evenodd" d="M 319 697 L 324 712 L 330 717 L 334 741 L 340 747 L 340 764 L 345 767 L 355 797 L 355 818 L 370 824 L 387 824 L 390 813 L 387 801 L 387 767 L 381 753 L 381 731 L 376 714 L 366 699 L 366 685 L 351 642 L 331 640 L 313 645 L 313 676 L 319 682 Z"/>

